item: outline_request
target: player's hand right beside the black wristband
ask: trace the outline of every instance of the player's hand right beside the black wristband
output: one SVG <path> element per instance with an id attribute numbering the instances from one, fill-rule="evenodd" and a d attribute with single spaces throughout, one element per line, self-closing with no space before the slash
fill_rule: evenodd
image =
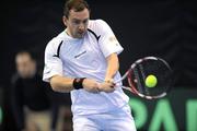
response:
<path id="1" fill-rule="evenodd" d="M 91 93 L 99 93 L 100 84 L 95 80 L 84 79 L 83 80 L 83 88 Z"/>

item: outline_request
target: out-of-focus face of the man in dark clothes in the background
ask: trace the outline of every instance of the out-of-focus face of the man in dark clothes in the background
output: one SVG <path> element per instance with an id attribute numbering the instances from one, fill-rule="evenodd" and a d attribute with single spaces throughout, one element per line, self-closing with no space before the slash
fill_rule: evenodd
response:
<path id="1" fill-rule="evenodd" d="M 16 70 L 23 79 L 32 78 L 36 71 L 36 63 L 28 55 L 20 55 L 15 59 Z"/>

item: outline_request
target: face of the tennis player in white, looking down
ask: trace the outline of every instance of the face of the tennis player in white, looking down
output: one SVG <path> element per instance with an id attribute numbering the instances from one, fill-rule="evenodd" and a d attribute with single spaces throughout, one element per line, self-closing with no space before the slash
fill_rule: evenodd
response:
<path id="1" fill-rule="evenodd" d="M 63 16 L 63 23 L 67 26 L 68 34 L 73 38 L 82 38 L 88 29 L 90 12 L 84 9 L 80 12 L 70 10 L 69 16 Z"/>

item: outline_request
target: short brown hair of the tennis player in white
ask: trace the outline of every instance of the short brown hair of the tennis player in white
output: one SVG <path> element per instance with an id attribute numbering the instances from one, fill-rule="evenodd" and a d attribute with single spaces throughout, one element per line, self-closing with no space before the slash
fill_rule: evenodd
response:
<path id="1" fill-rule="evenodd" d="M 88 9 L 90 11 L 90 7 L 86 1 L 84 1 L 84 0 L 68 0 L 65 3 L 63 15 L 66 17 L 68 17 L 70 10 L 80 12 L 80 11 L 83 11 L 84 9 Z"/>

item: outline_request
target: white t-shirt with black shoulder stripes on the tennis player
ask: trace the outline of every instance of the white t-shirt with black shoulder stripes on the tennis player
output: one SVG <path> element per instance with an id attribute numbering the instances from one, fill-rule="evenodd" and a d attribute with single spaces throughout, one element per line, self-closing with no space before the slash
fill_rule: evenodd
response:
<path id="1" fill-rule="evenodd" d="M 103 20 L 90 20 L 88 28 L 81 39 L 72 38 L 63 31 L 48 43 L 45 50 L 44 81 L 48 82 L 56 74 L 104 81 L 107 69 L 106 57 L 114 52 L 120 53 L 123 47 Z M 120 74 L 117 72 L 114 80 L 119 78 Z M 73 115 L 108 112 L 121 108 L 128 99 L 121 87 L 116 87 L 113 93 L 99 94 L 73 90 L 71 109 Z"/>

